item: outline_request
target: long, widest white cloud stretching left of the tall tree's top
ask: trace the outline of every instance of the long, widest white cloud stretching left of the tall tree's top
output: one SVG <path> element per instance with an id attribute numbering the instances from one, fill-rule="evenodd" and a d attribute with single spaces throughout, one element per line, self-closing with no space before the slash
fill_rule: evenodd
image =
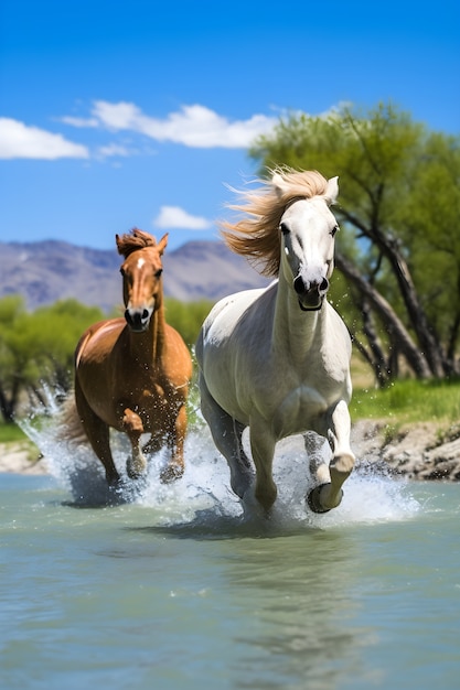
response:
<path id="1" fill-rule="evenodd" d="M 253 115 L 248 120 L 229 121 L 205 106 L 182 106 L 176 112 L 159 119 L 145 115 L 132 103 L 107 103 L 97 100 L 92 117 L 63 118 L 75 127 L 100 127 L 111 131 L 129 130 L 156 141 L 172 141 L 199 149 L 245 149 L 258 134 L 268 133 L 277 118 Z M 85 125 L 86 123 L 86 125 Z"/>

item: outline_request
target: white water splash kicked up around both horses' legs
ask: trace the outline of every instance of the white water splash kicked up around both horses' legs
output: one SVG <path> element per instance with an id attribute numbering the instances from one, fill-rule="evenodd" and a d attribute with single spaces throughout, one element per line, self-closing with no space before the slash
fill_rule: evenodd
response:
<path id="1" fill-rule="evenodd" d="M 89 446 L 69 444 L 60 438 L 60 391 L 47 389 L 45 395 L 46 406 L 31 411 L 20 425 L 46 459 L 51 475 L 69 493 L 68 503 L 75 506 L 136 503 L 153 509 L 159 521 L 165 526 L 193 522 L 196 529 L 210 530 L 213 525 L 222 529 L 226 525 L 235 528 L 250 524 L 253 528 L 257 525 L 261 533 L 402 520 L 413 517 L 420 507 L 410 495 L 407 482 L 395 481 L 362 459 L 364 462 L 359 464 L 344 485 L 340 507 L 325 515 L 312 514 L 304 499 L 312 483 L 303 440 L 291 436 L 277 445 L 274 478 L 278 498 L 270 519 L 266 519 L 254 498 L 243 505 L 233 494 L 226 462 L 217 452 L 206 424 L 200 419 L 185 442 L 184 475 L 167 485 L 159 481 L 165 463 L 162 452 L 149 459 L 145 479 L 132 483 L 126 475 L 129 442 L 125 434 L 113 432 L 114 460 L 122 483 L 120 488 L 109 489 L 103 466 Z M 247 438 L 245 442 L 247 444 Z"/>

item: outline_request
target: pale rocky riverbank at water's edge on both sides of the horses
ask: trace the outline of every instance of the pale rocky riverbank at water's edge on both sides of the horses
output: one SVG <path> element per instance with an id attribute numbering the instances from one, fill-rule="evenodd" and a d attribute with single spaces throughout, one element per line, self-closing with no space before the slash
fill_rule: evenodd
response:
<path id="1" fill-rule="evenodd" d="M 424 422 L 393 428 L 385 420 L 353 425 L 352 448 L 359 463 L 411 479 L 460 481 L 460 422 Z M 46 459 L 28 442 L 0 443 L 0 473 L 46 474 Z"/>

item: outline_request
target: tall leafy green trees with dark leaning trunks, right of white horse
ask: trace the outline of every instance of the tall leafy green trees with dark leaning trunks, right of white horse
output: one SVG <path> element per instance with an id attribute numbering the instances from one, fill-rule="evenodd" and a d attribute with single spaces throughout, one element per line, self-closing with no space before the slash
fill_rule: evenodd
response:
<path id="1" fill-rule="evenodd" d="M 458 373 L 459 143 L 381 104 L 290 116 L 250 150 L 261 170 L 339 175 L 334 213 L 345 237 L 335 263 L 353 302 L 344 311 L 381 384 L 397 374 L 399 355 L 418 377 Z"/>

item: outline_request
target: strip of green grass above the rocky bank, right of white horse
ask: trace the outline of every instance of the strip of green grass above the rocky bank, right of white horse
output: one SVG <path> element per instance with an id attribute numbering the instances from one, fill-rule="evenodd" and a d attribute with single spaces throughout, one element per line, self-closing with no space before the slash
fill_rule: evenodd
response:
<path id="1" fill-rule="evenodd" d="M 355 388 L 352 420 L 383 419 L 393 424 L 460 420 L 460 380 L 398 380 L 385 389 Z"/>

